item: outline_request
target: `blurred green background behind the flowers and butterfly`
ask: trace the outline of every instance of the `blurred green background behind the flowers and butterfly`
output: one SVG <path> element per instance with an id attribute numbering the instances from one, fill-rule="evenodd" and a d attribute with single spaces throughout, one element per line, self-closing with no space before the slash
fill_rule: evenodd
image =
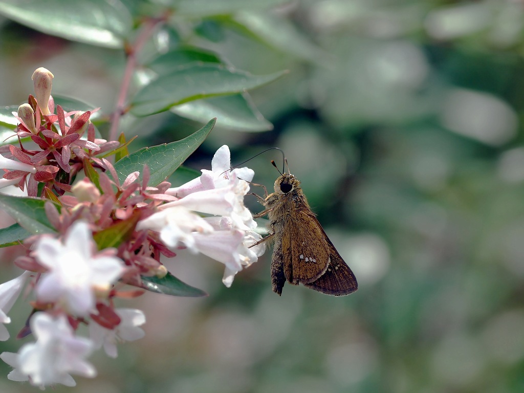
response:
<path id="1" fill-rule="evenodd" d="M 274 128 L 231 129 L 219 116 L 187 165 L 210 168 L 223 144 L 233 164 L 282 148 L 359 289 L 334 298 L 288 284 L 278 297 L 271 249 L 227 289 L 221 264 L 182 252 L 166 265 L 210 296 L 120 302 L 145 311 L 145 338 L 120 345 L 117 359 L 94 354 L 99 376 L 75 377 L 75 391 L 524 391 L 524 3 L 211 3 L 209 15 L 175 13 L 155 45 L 170 37 L 253 74 L 289 73 L 250 92 Z M 134 20 L 162 7 L 125 4 Z M 27 100 L 32 72 L 46 67 L 54 93 L 113 110 L 121 50 L 4 17 L 0 40 L 1 105 Z M 129 117 L 121 129 L 139 135 L 134 150 L 201 125 L 165 112 Z M 278 176 L 271 159 L 281 162 L 268 152 L 248 163 L 268 189 Z M 254 198 L 246 203 L 261 210 Z M 11 260 L 2 256 L 2 281 L 17 274 Z M 26 303 L 10 313 L 12 335 Z M 20 345 L 13 339 L 0 351 Z M 0 391 L 36 391 L 8 372 L 0 364 Z"/>

